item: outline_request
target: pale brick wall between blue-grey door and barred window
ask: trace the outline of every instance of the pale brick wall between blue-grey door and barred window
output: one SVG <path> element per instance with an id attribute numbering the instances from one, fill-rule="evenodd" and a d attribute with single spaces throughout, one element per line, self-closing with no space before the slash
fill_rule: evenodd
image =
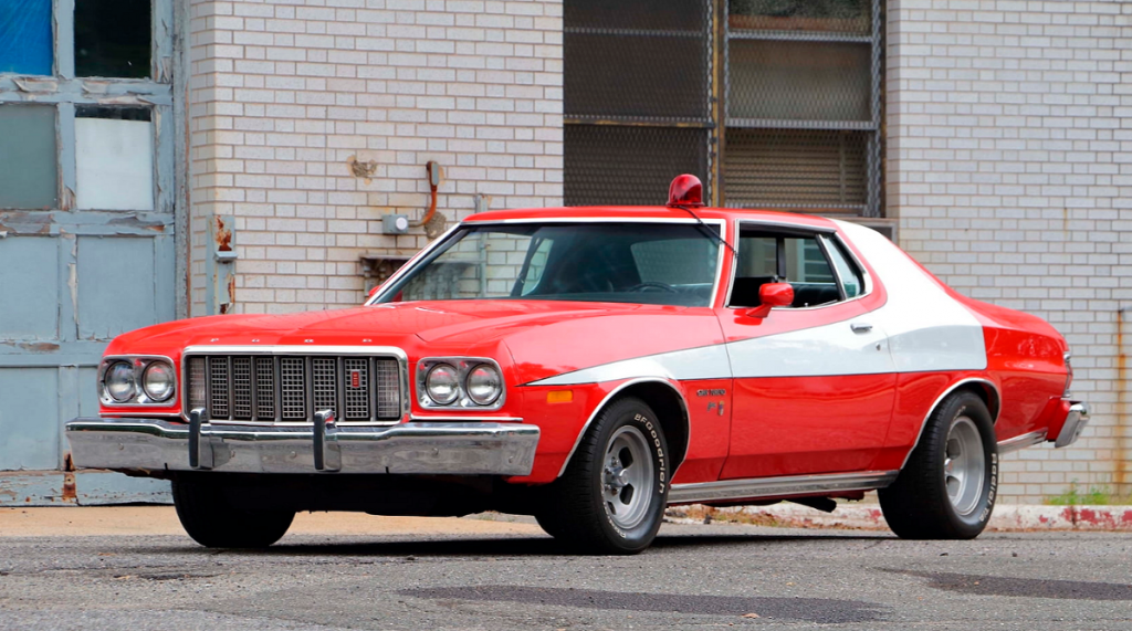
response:
<path id="1" fill-rule="evenodd" d="M 449 224 L 561 204 L 561 5 L 191 2 L 192 314 L 206 312 L 207 217 L 233 215 L 234 312 L 358 304 L 360 254 L 410 254 L 424 164 Z"/>

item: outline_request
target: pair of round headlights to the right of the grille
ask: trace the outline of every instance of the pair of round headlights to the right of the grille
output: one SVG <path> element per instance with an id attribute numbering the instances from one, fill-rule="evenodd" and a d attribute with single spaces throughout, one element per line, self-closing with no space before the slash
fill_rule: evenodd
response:
<path id="1" fill-rule="evenodd" d="M 505 387 L 499 364 L 482 357 L 430 357 L 417 365 L 421 407 L 499 409 Z"/>

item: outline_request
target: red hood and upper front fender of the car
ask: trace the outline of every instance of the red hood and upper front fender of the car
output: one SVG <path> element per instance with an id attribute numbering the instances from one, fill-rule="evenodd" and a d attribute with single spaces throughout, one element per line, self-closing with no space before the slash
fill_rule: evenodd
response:
<path id="1" fill-rule="evenodd" d="M 705 316 L 707 316 L 705 318 Z M 409 356 L 487 354 L 505 345 L 528 383 L 722 340 L 707 308 L 558 301 L 420 301 L 286 316 L 215 316 L 122 335 L 108 354 L 175 356 L 187 346 L 396 346 Z M 506 352 L 505 352 L 506 353 Z"/>

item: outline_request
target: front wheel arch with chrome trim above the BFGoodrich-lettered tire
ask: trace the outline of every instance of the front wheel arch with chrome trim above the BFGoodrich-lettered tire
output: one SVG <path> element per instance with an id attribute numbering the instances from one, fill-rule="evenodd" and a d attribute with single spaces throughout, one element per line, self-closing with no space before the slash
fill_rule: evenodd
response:
<path id="1" fill-rule="evenodd" d="M 684 398 L 684 394 L 672 382 L 661 378 L 642 378 L 626 381 L 614 388 L 593 408 L 590 417 L 586 418 L 585 424 L 582 425 L 582 430 L 577 433 L 574 447 L 571 448 L 569 453 L 566 456 L 561 469 L 558 470 L 558 477 L 561 477 L 566 473 L 566 467 L 569 466 L 571 460 L 574 458 L 574 452 L 577 451 L 577 446 L 582 443 L 582 438 L 590 431 L 593 420 L 601 414 L 601 410 L 609 407 L 610 404 L 624 397 L 637 397 L 649 404 L 649 407 L 657 414 L 657 422 L 660 423 L 660 427 L 664 432 L 664 440 L 668 442 L 670 461 L 672 463 L 671 477 L 676 476 L 680 464 L 684 463 L 684 457 L 687 456 L 692 438 L 688 403 Z"/>

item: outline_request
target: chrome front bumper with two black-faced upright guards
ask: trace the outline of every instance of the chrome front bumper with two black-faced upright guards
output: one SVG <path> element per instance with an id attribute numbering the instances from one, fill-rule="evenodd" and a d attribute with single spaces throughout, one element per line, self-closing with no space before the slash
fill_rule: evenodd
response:
<path id="1" fill-rule="evenodd" d="M 158 418 L 67 423 L 79 467 L 135 473 L 528 475 L 539 427 L 520 423 L 401 423 L 381 427 L 213 425 Z"/>

